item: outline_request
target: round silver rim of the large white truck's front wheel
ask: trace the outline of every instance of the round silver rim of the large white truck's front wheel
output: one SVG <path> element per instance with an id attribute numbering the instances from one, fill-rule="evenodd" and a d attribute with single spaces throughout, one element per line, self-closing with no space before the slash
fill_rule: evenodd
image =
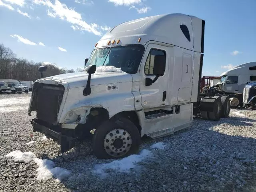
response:
<path id="1" fill-rule="evenodd" d="M 124 156 L 132 146 L 130 134 L 123 129 L 114 129 L 104 139 L 104 149 L 112 157 Z"/>

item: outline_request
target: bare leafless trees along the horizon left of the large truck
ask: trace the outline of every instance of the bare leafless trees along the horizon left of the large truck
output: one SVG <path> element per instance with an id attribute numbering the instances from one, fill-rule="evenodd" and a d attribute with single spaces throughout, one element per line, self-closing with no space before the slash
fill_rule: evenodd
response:
<path id="1" fill-rule="evenodd" d="M 47 66 L 44 77 L 73 73 L 74 69 L 59 68 L 56 64 L 28 61 L 24 58 L 17 58 L 16 54 L 4 44 L 0 44 L 0 79 L 16 79 L 19 81 L 35 81 L 40 78 L 39 66 Z M 77 68 L 76 72 L 81 72 Z"/>

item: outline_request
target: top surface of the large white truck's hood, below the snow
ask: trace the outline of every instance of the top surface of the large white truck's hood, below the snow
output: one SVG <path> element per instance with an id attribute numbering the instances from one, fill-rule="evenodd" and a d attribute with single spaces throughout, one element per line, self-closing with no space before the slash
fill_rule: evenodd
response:
<path id="1" fill-rule="evenodd" d="M 85 87 L 88 79 L 87 72 L 76 72 L 60 74 L 36 80 L 44 83 L 44 80 L 58 80 L 67 82 L 70 88 Z M 91 76 L 91 85 L 111 84 L 121 82 L 132 82 L 132 76 L 128 73 L 120 72 L 96 72 Z"/>

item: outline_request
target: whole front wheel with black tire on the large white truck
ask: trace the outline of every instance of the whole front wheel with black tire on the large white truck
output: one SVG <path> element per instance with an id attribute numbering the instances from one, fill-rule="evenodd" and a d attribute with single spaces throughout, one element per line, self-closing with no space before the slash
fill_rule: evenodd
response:
<path id="1" fill-rule="evenodd" d="M 99 159 L 121 158 L 136 154 L 140 146 L 140 132 L 126 118 L 107 120 L 96 128 L 92 148 Z"/>

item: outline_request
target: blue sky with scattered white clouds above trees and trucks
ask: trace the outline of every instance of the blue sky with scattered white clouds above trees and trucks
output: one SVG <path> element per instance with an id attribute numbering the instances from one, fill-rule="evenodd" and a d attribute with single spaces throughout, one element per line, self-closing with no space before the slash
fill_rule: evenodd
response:
<path id="1" fill-rule="evenodd" d="M 255 0 L 0 0 L 0 43 L 18 57 L 84 66 L 111 27 L 128 20 L 183 13 L 206 21 L 203 75 L 256 61 Z"/>

